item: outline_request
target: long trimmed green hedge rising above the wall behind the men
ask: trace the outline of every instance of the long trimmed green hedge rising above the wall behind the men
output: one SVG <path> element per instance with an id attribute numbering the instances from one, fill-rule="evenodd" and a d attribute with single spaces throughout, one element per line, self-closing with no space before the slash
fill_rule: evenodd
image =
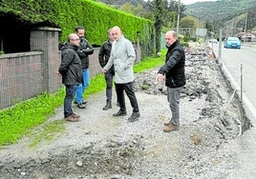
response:
<path id="1" fill-rule="evenodd" d="M 150 40 L 154 34 L 151 21 L 92 0 L 2 0 L 0 16 L 7 13 L 25 23 L 49 24 L 60 28 L 60 42 L 65 42 L 77 25 L 85 27 L 86 37 L 91 44 L 97 46 L 106 40 L 107 30 L 114 26 L 119 26 L 123 34 L 133 42 L 139 35 L 141 44 L 147 47 L 150 47 L 148 44 L 152 43 Z"/>

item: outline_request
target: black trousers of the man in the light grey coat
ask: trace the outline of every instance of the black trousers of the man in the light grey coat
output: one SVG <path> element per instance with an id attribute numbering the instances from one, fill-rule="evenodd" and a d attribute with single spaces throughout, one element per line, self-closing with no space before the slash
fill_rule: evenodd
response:
<path id="1" fill-rule="evenodd" d="M 130 100 L 131 106 L 133 107 L 133 112 L 139 112 L 137 98 L 135 95 L 135 91 L 133 89 L 133 82 L 126 83 L 126 84 L 116 84 L 116 90 L 117 90 L 117 101 L 119 102 L 120 110 L 126 111 L 124 93 L 123 93 L 123 90 L 124 90 Z"/>

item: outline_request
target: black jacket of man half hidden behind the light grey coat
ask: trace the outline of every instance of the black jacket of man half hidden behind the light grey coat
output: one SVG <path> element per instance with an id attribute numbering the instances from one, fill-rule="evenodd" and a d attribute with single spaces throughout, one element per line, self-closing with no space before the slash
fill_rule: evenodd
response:
<path id="1" fill-rule="evenodd" d="M 109 40 L 104 42 L 101 45 L 100 50 L 98 52 L 98 62 L 101 68 L 104 68 L 107 65 L 110 58 L 111 49 L 112 49 L 112 43 Z M 114 65 L 108 71 L 115 73 Z"/>

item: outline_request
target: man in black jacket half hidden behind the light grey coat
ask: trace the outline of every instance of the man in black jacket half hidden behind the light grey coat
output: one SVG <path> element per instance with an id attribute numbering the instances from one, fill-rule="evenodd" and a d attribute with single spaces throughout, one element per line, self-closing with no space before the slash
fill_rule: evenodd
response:
<path id="1" fill-rule="evenodd" d="M 112 49 L 112 43 L 114 42 L 114 38 L 111 33 L 111 30 L 112 29 L 108 30 L 108 40 L 101 45 L 100 50 L 98 52 L 98 62 L 101 68 L 104 68 L 109 61 L 109 57 Z M 107 103 L 103 108 L 103 110 L 107 110 L 107 109 L 112 109 L 112 86 L 113 86 L 113 78 L 115 75 L 114 66 L 112 66 L 110 70 L 104 73 L 104 75 L 105 75 L 105 81 L 106 81 Z"/>

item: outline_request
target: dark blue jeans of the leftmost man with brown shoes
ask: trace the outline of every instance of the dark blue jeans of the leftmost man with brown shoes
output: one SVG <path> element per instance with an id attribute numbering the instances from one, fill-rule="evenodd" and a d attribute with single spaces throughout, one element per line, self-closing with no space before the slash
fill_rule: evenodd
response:
<path id="1" fill-rule="evenodd" d="M 77 85 L 65 85 L 66 87 L 66 95 L 64 98 L 64 117 L 69 117 L 73 114 L 72 110 L 72 101 L 75 97 L 75 91 L 77 89 Z"/>

